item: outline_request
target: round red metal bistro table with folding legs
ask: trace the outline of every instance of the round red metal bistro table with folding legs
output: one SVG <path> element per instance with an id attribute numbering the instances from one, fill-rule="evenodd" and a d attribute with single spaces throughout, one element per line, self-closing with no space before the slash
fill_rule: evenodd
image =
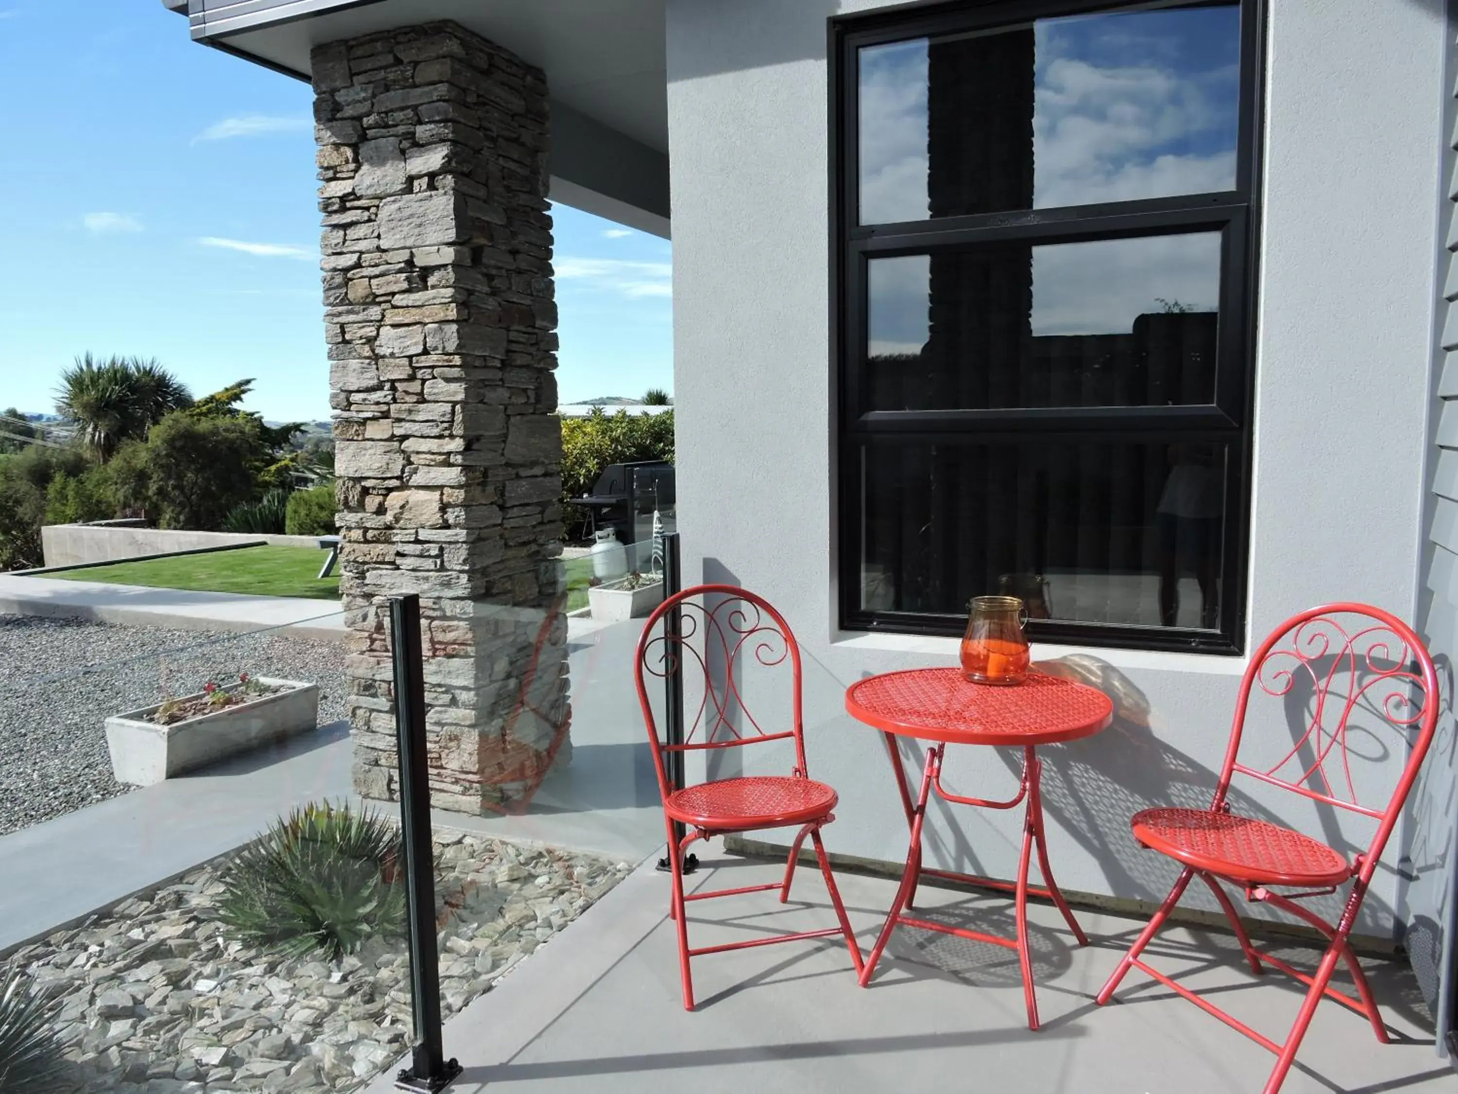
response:
<path id="1" fill-rule="evenodd" d="M 891 932 L 898 926 L 914 926 L 921 931 L 940 931 L 946 935 L 970 938 L 977 942 L 991 942 L 1018 951 L 1022 969 L 1022 993 L 1028 1004 L 1028 1028 L 1038 1028 L 1038 1001 L 1032 992 L 1032 963 L 1028 954 L 1028 894 L 1050 897 L 1069 928 L 1088 945 L 1083 929 L 1069 910 L 1048 868 L 1048 847 L 1042 836 L 1042 798 L 1040 794 L 1041 766 L 1037 756 L 1040 744 L 1076 741 L 1080 737 L 1105 729 L 1114 716 L 1114 703 L 1102 691 L 1085 684 L 1059 677 L 1029 672 L 1028 678 L 1015 687 L 989 687 L 972 684 L 958 668 L 917 668 L 908 672 L 886 672 L 868 677 L 846 688 L 846 709 L 851 718 L 875 726 L 885 734 L 891 769 L 901 791 L 901 805 L 905 808 L 907 824 L 911 826 L 911 847 L 907 850 L 907 866 L 901 875 L 891 915 L 881 929 L 870 957 L 860 973 L 860 983 L 870 982 L 870 974 L 886 948 Z M 905 769 L 897 750 L 898 737 L 919 741 L 935 741 L 926 751 L 926 767 L 921 773 L 921 789 L 911 799 Z M 942 757 L 949 744 L 1000 744 L 1022 748 L 1022 780 L 1016 796 L 1007 801 L 965 798 L 942 788 Z M 943 801 L 961 805 L 977 805 L 984 810 L 1010 810 L 1026 801 L 1022 826 L 1022 855 L 1018 859 L 1016 881 L 993 881 L 968 874 L 954 874 L 945 869 L 923 869 L 921 826 L 926 823 L 926 802 L 932 791 Z M 1047 888 L 1028 885 L 1028 864 L 1032 850 L 1038 852 L 1038 871 Z M 961 881 L 981 888 L 996 888 L 1013 893 L 1013 909 L 1018 922 L 1016 938 L 984 935 L 978 931 L 933 923 L 905 915 L 916 899 L 916 887 L 921 875 Z"/>

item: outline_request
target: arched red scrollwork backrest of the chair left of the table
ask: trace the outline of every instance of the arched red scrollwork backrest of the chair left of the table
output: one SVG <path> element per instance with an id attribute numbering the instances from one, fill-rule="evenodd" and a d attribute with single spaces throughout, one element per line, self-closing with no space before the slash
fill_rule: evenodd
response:
<path id="1" fill-rule="evenodd" d="M 783 716 L 757 718 L 745 702 L 742 670 L 757 664 L 790 672 L 790 726 Z M 684 681 L 684 740 L 668 744 L 649 700 L 647 677 L 679 672 Z M 793 738 L 799 773 L 805 773 L 805 731 L 800 721 L 800 648 L 789 623 L 768 601 L 735 585 L 695 585 L 677 592 L 643 624 L 633 659 L 643 723 L 653 745 L 659 789 L 669 794 L 663 759 L 669 753 L 738 748 Z M 693 702 L 701 681 L 703 693 Z M 760 712 L 761 715 L 764 712 Z"/>

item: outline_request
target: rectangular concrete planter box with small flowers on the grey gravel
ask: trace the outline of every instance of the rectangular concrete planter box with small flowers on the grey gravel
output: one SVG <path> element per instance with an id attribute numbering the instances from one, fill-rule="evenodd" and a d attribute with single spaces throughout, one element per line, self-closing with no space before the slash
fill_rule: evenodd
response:
<path id="1" fill-rule="evenodd" d="M 185 718 L 172 725 L 150 721 L 160 703 L 108 718 L 106 747 L 111 750 L 111 770 L 117 782 L 150 786 L 318 726 L 318 684 L 270 677 L 258 677 L 258 683 L 289 690 Z M 184 702 L 200 694 L 185 696 Z"/>

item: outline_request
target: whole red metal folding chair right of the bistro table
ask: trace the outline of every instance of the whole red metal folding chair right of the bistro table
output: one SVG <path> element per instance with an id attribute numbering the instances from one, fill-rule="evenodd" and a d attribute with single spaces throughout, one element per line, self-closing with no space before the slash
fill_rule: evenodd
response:
<path id="1" fill-rule="evenodd" d="M 1295 707 L 1296 700 L 1302 702 L 1303 725 L 1296 734 L 1295 744 L 1268 767 L 1247 766 L 1238 759 L 1252 686 L 1258 686 L 1268 696 L 1283 699 L 1287 712 Z M 1280 1090 L 1322 996 L 1366 1015 L 1376 1039 L 1385 1044 L 1387 1027 L 1378 1014 L 1362 967 L 1347 945 L 1347 936 L 1356 923 L 1362 899 L 1382 858 L 1382 849 L 1403 811 L 1403 802 L 1427 754 L 1438 723 L 1438 672 L 1433 670 L 1432 658 L 1406 623 L 1381 608 L 1365 604 L 1328 604 L 1293 616 L 1277 627 L 1255 651 L 1241 680 L 1231 744 L 1225 753 L 1225 766 L 1220 769 L 1220 782 L 1210 808 L 1145 810 L 1131 821 L 1134 840 L 1140 846 L 1168 855 L 1184 864 L 1184 869 L 1169 896 L 1099 990 L 1098 1002 L 1107 1004 L 1130 967 L 1137 967 L 1273 1052 L 1277 1056 L 1276 1069 L 1266 1081 L 1266 1094 L 1276 1094 Z M 1349 748 L 1349 729 L 1371 740 L 1369 722 L 1385 722 L 1408 747 L 1407 763 L 1397 780 L 1397 789 L 1382 808 L 1362 805 L 1353 786 L 1352 757 L 1359 753 Z M 1369 817 L 1376 821 L 1376 833 L 1366 850 L 1349 861 L 1341 852 L 1299 831 L 1241 817 L 1232 812 L 1228 801 L 1233 775 Z M 1140 953 L 1149 945 L 1193 878 L 1200 878 L 1220 903 L 1252 973 L 1270 966 L 1308 986 L 1296 1024 L 1292 1025 L 1283 1044 L 1232 1018 L 1140 960 Z M 1222 881 L 1244 890 L 1245 900 L 1289 912 L 1325 935 L 1328 944 L 1315 976 L 1306 976 L 1279 957 L 1251 945 L 1231 897 L 1220 887 Z M 1296 903 L 1336 893 L 1349 881 L 1352 891 L 1343 906 L 1341 918 L 1334 925 Z M 1282 894 L 1271 887 L 1295 887 L 1301 891 Z M 1331 988 L 1331 974 L 1338 960 L 1346 961 L 1352 971 L 1357 989 L 1356 998 Z"/>

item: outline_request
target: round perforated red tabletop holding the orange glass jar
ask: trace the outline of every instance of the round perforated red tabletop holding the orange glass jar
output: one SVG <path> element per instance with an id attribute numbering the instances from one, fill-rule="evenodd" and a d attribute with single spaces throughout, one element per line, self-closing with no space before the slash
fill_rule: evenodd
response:
<path id="1" fill-rule="evenodd" d="M 1114 702 L 1088 684 L 1029 672 L 1015 687 L 991 687 L 959 668 L 868 677 L 846 688 L 846 710 L 888 734 L 948 744 L 1076 741 L 1114 721 Z"/>

